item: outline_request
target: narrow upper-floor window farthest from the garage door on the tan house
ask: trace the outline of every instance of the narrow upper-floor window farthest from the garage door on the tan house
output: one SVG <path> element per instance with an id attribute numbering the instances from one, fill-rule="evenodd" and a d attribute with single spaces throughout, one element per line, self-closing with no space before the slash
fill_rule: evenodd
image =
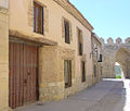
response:
<path id="1" fill-rule="evenodd" d="M 79 55 L 82 55 L 82 33 L 80 29 L 78 29 L 78 50 Z"/>

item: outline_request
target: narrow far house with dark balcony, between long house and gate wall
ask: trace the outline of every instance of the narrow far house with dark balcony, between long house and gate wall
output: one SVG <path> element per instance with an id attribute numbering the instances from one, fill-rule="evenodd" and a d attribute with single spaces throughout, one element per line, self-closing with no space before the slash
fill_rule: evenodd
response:
<path id="1" fill-rule="evenodd" d="M 93 84 L 102 78 L 102 41 L 92 33 Z"/>

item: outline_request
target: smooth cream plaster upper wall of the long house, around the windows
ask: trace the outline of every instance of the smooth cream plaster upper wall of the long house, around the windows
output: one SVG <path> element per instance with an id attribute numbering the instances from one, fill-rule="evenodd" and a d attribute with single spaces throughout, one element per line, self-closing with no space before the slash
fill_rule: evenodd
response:
<path id="1" fill-rule="evenodd" d="M 40 0 L 37 0 L 40 1 Z M 83 34 L 83 53 L 87 59 L 87 74 L 92 74 L 92 60 L 90 59 L 91 52 L 91 32 L 87 29 L 78 20 L 72 16 L 67 11 L 65 11 L 61 5 L 58 5 L 53 0 L 44 0 L 40 1 L 41 4 L 46 8 L 46 15 L 48 18 L 46 21 L 46 27 L 48 27 L 48 32 L 46 32 L 44 36 L 39 36 L 38 34 L 32 33 L 32 26 L 28 25 L 28 11 L 31 10 L 28 7 L 32 7 L 32 0 L 12 0 L 10 2 L 10 29 L 16 29 L 23 33 L 29 33 L 29 35 L 34 35 L 36 37 L 47 38 L 50 40 L 54 40 L 58 46 L 76 50 L 76 63 L 80 62 L 80 57 L 78 55 L 78 37 L 77 37 L 77 26 L 82 30 Z M 16 5 L 15 5 L 16 4 Z M 14 7 L 15 5 L 15 7 Z M 18 16 L 18 17 L 17 17 Z M 22 17 L 24 16 L 24 18 Z M 72 44 L 65 44 L 65 38 L 63 37 L 62 32 L 62 20 L 63 17 L 67 18 L 72 24 Z M 32 21 L 31 21 L 32 23 Z M 79 65 L 77 65 L 78 70 Z M 78 72 L 78 71 L 76 71 Z M 79 74 L 79 73 L 78 73 Z"/>

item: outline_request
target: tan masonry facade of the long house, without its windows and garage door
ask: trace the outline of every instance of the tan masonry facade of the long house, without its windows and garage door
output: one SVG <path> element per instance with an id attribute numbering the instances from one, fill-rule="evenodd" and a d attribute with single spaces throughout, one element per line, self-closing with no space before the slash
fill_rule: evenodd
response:
<path id="1" fill-rule="evenodd" d="M 34 32 L 34 0 L 5 1 L 0 2 L 10 7 L 9 11 L 4 7 L 0 8 L 0 27 L 2 27 L 0 111 L 9 110 L 9 42 L 37 45 L 40 101 L 66 98 L 100 81 L 101 76 L 93 78 L 91 42 L 93 27 L 69 1 L 35 0 L 43 8 L 43 35 Z M 64 21 L 69 23 L 70 44 L 65 44 Z M 82 55 L 79 55 L 78 29 L 82 33 Z M 101 47 L 99 44 L 98 46 Z M 72 61 L 72 87 L 68 88 L 65 88 L 65 60 Z M 82 61 L 86 64 L 83 83 Z M 24 82 L 27 83 L 26 79 Z"/>

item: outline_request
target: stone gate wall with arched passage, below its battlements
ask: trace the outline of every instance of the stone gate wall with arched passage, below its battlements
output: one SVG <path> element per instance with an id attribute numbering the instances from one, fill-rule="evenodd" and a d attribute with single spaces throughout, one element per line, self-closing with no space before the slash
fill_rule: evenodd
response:
<path id="1" fill-rule="evenodd" d="M 103 77 L 116 77 L 115 63 L 121 66 L 125 77 L 130 78 L 130 48 L 108 46 L 103 50 Z"/>

